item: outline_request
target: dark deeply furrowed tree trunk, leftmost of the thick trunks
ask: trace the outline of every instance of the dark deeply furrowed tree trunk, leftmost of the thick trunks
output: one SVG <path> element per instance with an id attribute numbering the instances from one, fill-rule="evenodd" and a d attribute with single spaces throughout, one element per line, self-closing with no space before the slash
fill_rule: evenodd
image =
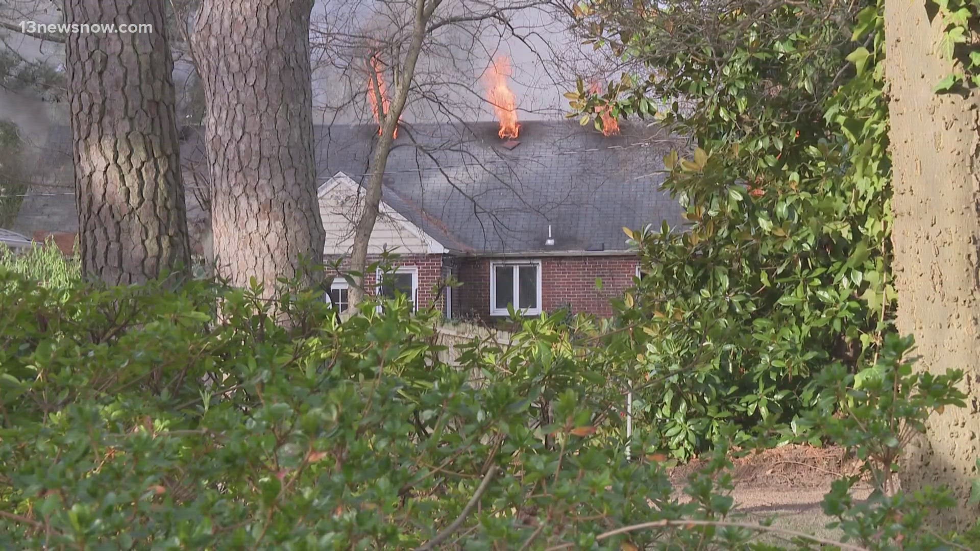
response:
<path id="1" fill-rule="evenodd" d="M 65 2 L 69 24 L 153 25 L 66 45 L 81 266 L 108 283 L 190 266 L 164 12 L 157 0 Z"/>

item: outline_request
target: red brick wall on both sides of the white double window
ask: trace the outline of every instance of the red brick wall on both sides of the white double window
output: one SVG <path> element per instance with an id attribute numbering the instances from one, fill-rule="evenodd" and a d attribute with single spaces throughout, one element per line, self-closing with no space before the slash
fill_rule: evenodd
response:
<path id="1" fill-rule="evenodd" d="M 527 260 L 535 260 L 528 258 Z M 541 304 L 546 312 L 568 307 L 573 313 L 600 317 L 613 315 L 610 300 L 633 285 L 637 258 L 623 256 L 575 256 L 541 258 Z M 456 289 L 458 312 L 464 317 L 489 320 L 490 263 L 492 259 L 460 259 Z M 601 278 L 603 288 L 596 288 Z"/>

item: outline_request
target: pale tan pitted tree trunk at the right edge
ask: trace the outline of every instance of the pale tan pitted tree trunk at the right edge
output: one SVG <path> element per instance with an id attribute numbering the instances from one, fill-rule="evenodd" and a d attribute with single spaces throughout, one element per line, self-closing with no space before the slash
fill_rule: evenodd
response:
<path id="1" fill-rule="evenodd" d="M 914 334 L 919 369 L 964 370 L 969 395 L 967 408 L 933 416 L 901 480 L 904 490 L 950 484 L 962 505 L 937 521 L 963 526 L 980 516 L 966 504 L 980 457 L 980 93 L 933 93 L 951 72 L 935 54 L 942 18 L 930 23 L 926 2 L 885 4 L 898 328 Z"/>

